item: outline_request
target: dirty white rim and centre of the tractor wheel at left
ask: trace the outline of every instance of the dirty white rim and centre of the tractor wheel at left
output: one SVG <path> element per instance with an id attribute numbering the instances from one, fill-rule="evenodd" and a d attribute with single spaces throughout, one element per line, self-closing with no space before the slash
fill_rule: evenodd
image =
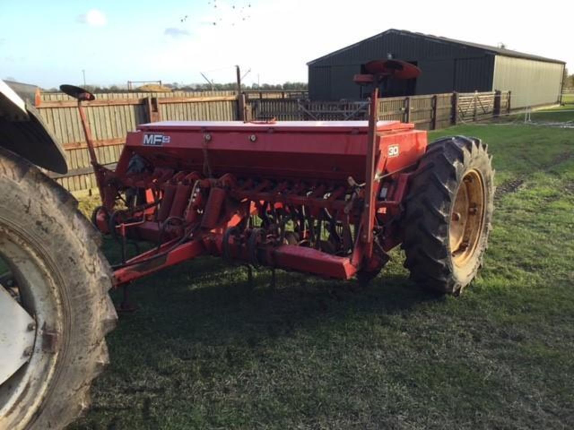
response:
<path id="1" fill-rule="evenodd" d="M 60 331 L 61 302 L 43 261 L 1 222 L 0 269 L 9 273 L 0 276 L 0 428 L 20 429 L 54 375 L 59 354 L 46 350 L 45 339 Z"/>

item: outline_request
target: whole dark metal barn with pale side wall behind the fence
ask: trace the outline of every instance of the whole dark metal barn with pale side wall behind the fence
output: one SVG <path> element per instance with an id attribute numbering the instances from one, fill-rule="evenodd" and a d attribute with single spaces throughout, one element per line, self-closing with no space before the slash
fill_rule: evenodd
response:
<path id="1" fill-rule="evenodd" d="M 312 100 L 360 100 L 352 82 L 366 62 L 398 58 L 422 70 L 417 79 L 391 84 L 387 96 L 512 91 L 513 107 L 560 100 L 564 61 L 495 46 L 390 29 L 308 62 Z"/>

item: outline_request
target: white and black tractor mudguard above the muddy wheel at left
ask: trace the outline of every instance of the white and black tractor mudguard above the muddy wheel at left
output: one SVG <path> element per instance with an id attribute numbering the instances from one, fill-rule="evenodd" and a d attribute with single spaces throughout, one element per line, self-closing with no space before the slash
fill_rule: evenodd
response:
<path id="1" fill-rule="evenodd" d="M 67 173 L 63 148 L 36 108 L 0 80 L 0 147 L 57 173 Z"/>

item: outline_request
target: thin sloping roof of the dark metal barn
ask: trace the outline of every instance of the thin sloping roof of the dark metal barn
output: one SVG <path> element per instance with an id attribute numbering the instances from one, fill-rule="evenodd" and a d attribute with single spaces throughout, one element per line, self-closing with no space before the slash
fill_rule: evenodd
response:
<path id="1" fill-rule="evenodd" d="M 456 39 L 451 39 L 448 37 L 442 37 L 442 36 L 433 36 L 432 34 L 423 34 L 423 33 L 416 33 L 416 32 L 409 32 L 408 30 L 397 30 L 397 29 L 389 29 L 386 30 L 386 32 L 382 32 L 379 34 L 375 34 L 375 36 L 371 36 L 368 37 L 362 41 L 356 42 L 355 44 L 346 46 L 345 48 L 342 49 L 338 49 L 336 51 L 333 51 L 331 53 L 328 53 L 327 55 L 324 55 L 322 57 L 316 58 L 315 60 L 309 61 L 307 63 L 307 65 L 313 65 L 316 62 L 319 62 L 321 60 L 324 60 L 325 58 L 331 57 L 335 54 L 344 52 L 346 50 L 355 48 L 356 46 L 359 46 L 360 44 L 362 44 L 363 42 L 369 41 L 369 40 L 373 40 L 376 39 L 378 37 L 384 36 L 385 34 L 400 34 L 402 36 L 415 36 L 415 37 L 420 37 L 420 38 L 424 38 L 426 40 L 430 40 L 433 42 L 439 42 L 439 43 L 447 43 L 447 44 L 455 44 L 455 45 L 463 45 L 463 46 L 470 46 L 472 48 L 477 48 L 477 49 L 482 49 L 486 52 L 490 52 L 492 54 L 497 54 L 497 55 L 502 55 L 502 56 L 506 56 L 506 57 L 516 57 L 516 58 L 526 58 L 528 60 L 536 60 L 536 61 L 546 61 L 546 62 L 557 62 L 560 64 L 566 64 L 565 61 L 561 61 L 561 60 L 553 60 L 552 58 L 546 58 L 546 57 L 541 57 L 538 55 L 532 55 L 532 54 L 526 54 L 523 52 L 518 52 L 515 50 L 511 50 L 511 49 L 505 49 L 505 48 L 498 48 L 497 46 L 490 46 L 490 45 L 482 45 L 482 44 L 476 44 L 474 42 L 465 42 L 463 40 L 456 40 Z"/>

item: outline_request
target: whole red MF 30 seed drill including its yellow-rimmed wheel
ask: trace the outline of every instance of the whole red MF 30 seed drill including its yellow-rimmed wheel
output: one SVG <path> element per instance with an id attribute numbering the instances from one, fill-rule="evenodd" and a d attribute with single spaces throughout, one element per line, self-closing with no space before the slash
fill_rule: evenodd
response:
<path id="1" fill-rule="evenodd" d="M 482 261 L 492 214 L 486 145 L 455 136 L 427 144 L 414 124 L 379 121 L 379 88 L 420 71 L 373 61 L 368 121 L 176 122 L 127 134 L 115 170 L 95 157 L 102 205 L 92 221 L 122 246 L 117 286 L 201 255 L 249 267 L 369 280 L 399 244 L 412 277 L 458 292 Z M 384 90 L 383 90 L 384 91 Z M 126 256 L 129 240 L 154 246 Z"/>

